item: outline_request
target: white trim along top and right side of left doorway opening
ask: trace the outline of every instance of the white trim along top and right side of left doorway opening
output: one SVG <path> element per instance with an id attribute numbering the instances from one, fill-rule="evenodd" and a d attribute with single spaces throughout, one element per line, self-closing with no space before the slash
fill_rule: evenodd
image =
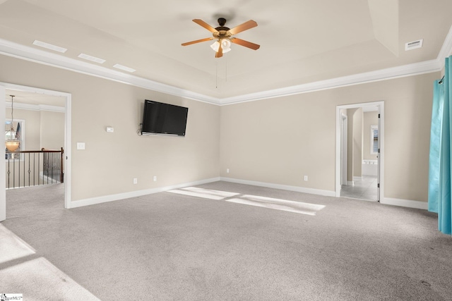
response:
<path id="1" fill-rule="evenodd" d="M 64 123 L 64 156 L 66 158 L 66 164 L 64 164 L 64 208 L 69 209 L 71 208 L 71 162 L 72 162 L 72 151 L 71 151 L 71 139 L 72 139 L 72 135 L 71 135 L 71 94 L 70 93 L 66 93 L 66 92 L 58 92 L 58 91 L 53 91 L 53 90 L 46 90 L 46 89 L 41 89 L 41 88 L 37 88 L 37 87 L 28 87 L 28 86 L 23 86 L 23 85 L 15 85 L 15 84 L 10 84 L 8 82 L 0 82 L 0 87 L 4 87 L 5 89 L 8 90 L 18 90 L 18 91 L 23 91 L 23 92 L 30 92 L 30 93 L 39 93 L 39 94 L 46 94 L 46 95 L 52 95 L 52 96 L 59 96 L 59 97 L 65 97 L 66 98 L 66 113 L 65 113 L 65 123 Z M 3 93 L 5 94 L 5 93 Z M 1 102 L 1 98 L 0 97 L 0 107 L 2 106 L 2 102 Z M 4 97 L 3 97 L 4 99 Z M 3 104 L 5 104 L 5 102 L 3 102 Z M 4 110 L 3 110 L 4 112 Z M 0 115 L 0 123 L 4 123 L 4 117 L 1 118 Z M 1 154 L 1 153 L 0 153 Z M 4 165 L 3 165 L 4 166 Z M 0 173 L 1 173 L 1 167 L 0 167 Z M 3 173 L 5 173 L 5 171 L 3 171 Z M 4 181 L 2 182 L 4 183 Z M 1 183 L 0 183 L 1 185 Z M 0 186 L 1 189 L 1 186 Z M 0 204 L 1 206 L 1 204 Z M 0 209 L 1 211 L 1 209 Z"/>

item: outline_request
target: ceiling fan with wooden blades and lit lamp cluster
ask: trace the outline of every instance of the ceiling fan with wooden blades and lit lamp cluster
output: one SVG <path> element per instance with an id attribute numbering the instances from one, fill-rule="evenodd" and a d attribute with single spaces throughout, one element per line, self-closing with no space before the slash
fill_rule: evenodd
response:
<path id="1" fill-rule="evenodd" d="M 254 43 L 245 41 L 244 39 L 238 39 L 237 37 L 232 37 L 232 35 L 235 35 L 239 32 L 249 30 L 253 27 L 256 27 L 257 23 L 254 20 L 246 21 L 245 23 L 242 23 L 232 29 L 230 29 L 229 27 L 225 27 L 225 24 L 226 24 L 225 18 L 218 19 L 218 24 L 220 26 L 218 26 L 216 28 L 213 28 L 212 26 L 208 25 L 206 22 L 204 22 L 201 19 L 194 19 L 193 22 L 198 25 L 201 25 L 202 27 L 206 28 L 206 30 L 212 32 L 213 37 L 206 37 L 206 39 L 197 39 L 196 41 L 186 42 L 186 43 L 183 43 L 182 46 L 187 46 L 187 45 L 191 45 L 191 44 L 196 44 L 196 43 L 206 42 L 206 41 L 210 41 L 212 39 L 216 39 L 215 43 L 210 45 L 210 47 L 212 47 L 212 49 L 215 51 L 215 58 L 220 58 L 223 56 L 224 53 L 226 53 L 227 51 L 230 51 L 231 43 L 239 44 L 239 45 L 248 47 L 253 50 L 257 50 L 257 49 L 259 49 L 259 47 L 261 47 L 258 44 L 254 44 Z"/>

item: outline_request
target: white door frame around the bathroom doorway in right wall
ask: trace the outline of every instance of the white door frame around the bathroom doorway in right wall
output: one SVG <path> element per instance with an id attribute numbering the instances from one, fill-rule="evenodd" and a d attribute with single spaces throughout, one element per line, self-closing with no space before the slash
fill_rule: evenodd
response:
<path id="1" fill-rule="evenodd" d="M 380 202 L 384 199 L 384 102 L 365 102 L 362 104 L 345 104 L 336 106 L 336 167 L 335 167 L 335 195 L 340 197 L 340 140 L 342 132 L 342 113 L 341 109 L 362 108 L 364 106 L 378 106 L 380 114 L 380 128 L 379 128 L 379 172 L 380 172 Z"/>

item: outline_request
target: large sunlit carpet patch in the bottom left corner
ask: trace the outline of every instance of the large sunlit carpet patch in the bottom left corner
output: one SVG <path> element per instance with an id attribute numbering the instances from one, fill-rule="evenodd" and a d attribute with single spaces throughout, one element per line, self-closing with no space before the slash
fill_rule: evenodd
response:
<path id="1" fill-rule="evenodd" d="M 44 257 L 0 270 L 1 289 L 23 300 L 99 300 Z"/>

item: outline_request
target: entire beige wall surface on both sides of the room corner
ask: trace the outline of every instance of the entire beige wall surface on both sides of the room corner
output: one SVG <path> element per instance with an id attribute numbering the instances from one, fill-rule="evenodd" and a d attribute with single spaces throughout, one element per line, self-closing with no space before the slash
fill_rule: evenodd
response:
<path id="1" fill-rule="evenodd" d="M 385 102 L 385 197 L 427 201 L 432 82 L 439 73 L 218 107 L 6 56 L 0 65 L 0 81 L 72 94 L 74 201 L 213 178 L 219 170 L 334 191 L 335 108 L 376 101 Z M 143 99 L 188 106 L 186 137 L 138 137 Z M 76 150 L 76 142 L 86 149 Z"/>

